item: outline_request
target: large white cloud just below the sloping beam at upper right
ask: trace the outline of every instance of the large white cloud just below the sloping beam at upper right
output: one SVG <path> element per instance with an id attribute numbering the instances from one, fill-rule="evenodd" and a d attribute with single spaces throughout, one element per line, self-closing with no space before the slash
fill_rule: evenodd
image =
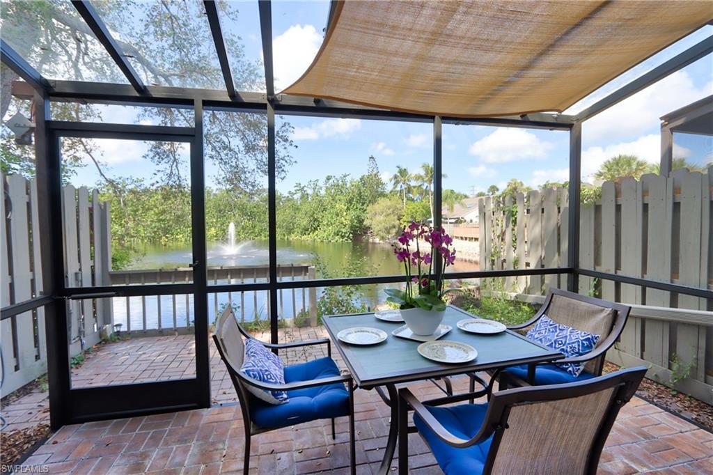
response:
<path id="1" fill-rule="evenodd" d="M 585 121 L 582 140 L 621 141 L 657 130 L 661 116 L 712 93 L 713 82 L 696 88 L 686 71 L 677 71 Z"/>

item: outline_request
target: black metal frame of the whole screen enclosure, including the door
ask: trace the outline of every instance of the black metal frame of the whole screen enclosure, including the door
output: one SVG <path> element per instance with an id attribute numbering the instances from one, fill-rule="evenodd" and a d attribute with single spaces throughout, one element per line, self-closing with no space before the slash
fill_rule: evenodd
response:
<path id="1" fill-rule="evenodd" d="M 323 116 L 342 118 L 364 118 L 369 120 L 414 121 L 434 124 L 434 223 L 441 223 L 442 198 L 442 138 L 441 128 L 447 124 L 473 124 L 486 126 L 504 126 L 520 128 L 543 128 L 548 130 L 570 131 L 570 233 L 568 242 L 567 267 L 553 269 L 522 269 L 489 272 L 456 272 L 446 275 L 448 279 L 473 277 L 504 277 L 515 275 L 568 275 L 568 289 L 578 290 L 578 275 L 599 277 L 617 282 L 642 285 L 671 292 L 679 292 L 697 297 L 713 298 L 713 292 L 694 287 L 651 282 L 622 275 L 607 274 L 595 270 L 580 269 L 578 262 L 579 220 L 578 198 L 580 190 L 580 154 L 581 154 L 581 122 L 590 118 L 608 106 L 632 95 L 641 88 L 658 81 L 660 78 L 695 61 L 713 50 L 713 40 L 707 39 L 689 48 L 688 51 L 667 61 L 655 70 L 637 79 L 635 83 L 625 86 L 616 93 L 602 99 L 577 116 L 557 116 L 546 113 L 532 113 L 524 116 L 507 116 L 496 118 L 453 118 L 427 116 L 414 113 L 389 111 L 381 108 L 357 106 L 339 101 L 319 98 L 305 98 L 286 95 L 275 96 L 272 77 L 272 11 L 270 0 L 260 0 L 260 26 L 263 41 L 263 56 L 265 63 L 265 80 L 267 93 L 239 92 L 232 88 L 232 74 L 227 61 L 225 43 L 222 39 L 220 19 L 212 0 L 205 0 L 206 14 L 215 42 L 216 53 L 220 62 L 226 83 L 225 91 L 212 89 L 176 88 L 165 86 L 145 86 L 133 70 L 127 58 L 120 51 L 116 41 L 111 37 L 106 25 L 98 17 L 88 1 L 74 0 L 73 4 L 88 26 L 93 30 L 101 44 L 106 48 L 118 67 L 128 78 L 129 84 L 88 83 L 83 81 L 48 81 L 21 58 L 4 41 L 0 41 L 1 61 L 23 78 L 34 90 L 37 110 L 36 118 L 36 176 L 39 193 L 39 222 L 43 235 L 62 235 L 61 222 L 61 183 L 59 169 L 59 136 L 76 136 L 89 138 L 129 138 L 136 140 L 184 141 L 191 144 L 190 169 L 192 178 L 191 205 L 193 208 L 193 256 L 194 282 L 175 285 L 144 285 L 117 287 L 83 287 L 68 288 L 65 285 L 63 271 L 63 244 L 61 240 L 43 240 L 41 256 L 43 262 L 44 295 L 28 302 L 19 302 L 2 309 L 1 318 L 20 315 L 37 307 L 46 309 L 46 334 L 48 353 L 48 379 L 50 387 L 51 425 L 60 427 L 70 422 L 80 420 L 102 419 L 111 417 L 110 412 L 97 409 L 94 412 L 76 412 L 76 402 L 84 398 L 83 394 L 95 394 L 106 399 L 106 402 L 118 401 L 121 387 L 92 388 L 71 390 L 69 382 L 68 343 L 66 341 L 66 305 L 65 298 L 91 298 L 101 295 L 168 295 L 175 293 L 192 293 L 194 296 L 197 339 L 197 378 L 198 389 L 193 393 L 195 407 L 207 407 L 210 404 L 210 384 L 207 365 L 207 292 L 225 292 L 230 290 L 268 290 L 271 302 L 272 341 L 277 342 L 277 292 L 279 289 L 294 287 L 323 287 L 330 285 L 369 285 L 376 283 L 401 282 L 401 276 L 357 277 L 331 280 L 312 280 L 301 282 L 277 282 L 277 258 L 275 242 L 275 115 L 285 116 Z M 329 25 L 328 25 L 329 27 Z M 122 124 L 97 123 L 67 123 L 51 121 L 49 116 L 50 101 L 82 101 L 93 103 L 109 103 L 135 106 L 168 106 L 174 108 L 193 108 L 195 125 L 193 128 L 135 126 Z M 204 109 L 220 111 L 265 113 L 267 116 L 268 136 L 268 213 L 270 226 L 270 280 L 266 283 L 207 285 L 205 279 L 205 196 L 204 196 L 204 163 L 202 150 L 202 114 Z M 171 382 L 169 382 L 171 383 Z M 175 389 L 182 389 L 185 382 L 175 382 Z M 151 384 L 134 385 L 132 390 L 145 392 L 147 404 L 124 407 L 125 415 L 143 414 L 145 412 L 160 412 L 185 407 L 185 401 L 176 404 L 164 404 L 158 391 L 150 391 Z M 165 384 L 163 385 L 165 386 Z M 163 387 L 170 389 L 170 384 Z M 112 390 L 115 390 L 112 392 Z M 170 390 L 168 392 L 171 392 Z M 112 395 L 113 394 L 113 395 Z M 138 393 L 137 393 L 138 394 Z M 70 399 L 78 398 L 76 401 Z M 152 405 L 153 404 L 153 405 Z M 118 405 L 116 407 L 119 407 Z M 74 412 L 73 412 L 74 411 Z M 133 412 L 132 412 L 133 411 Z"/>

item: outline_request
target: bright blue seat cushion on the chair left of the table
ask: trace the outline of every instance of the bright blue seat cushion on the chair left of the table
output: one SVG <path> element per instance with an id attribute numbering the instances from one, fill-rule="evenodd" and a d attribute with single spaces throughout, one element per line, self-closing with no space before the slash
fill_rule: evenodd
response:
<path id="1" fill-rule="evenodd" d="M 284 368 L 284 381 L 312 381 L 339 376 L 339 368 L 332 358 L 294 364 Z M 329 419 L 349 415 L 349 392 L 344 384 L 327 384 L 307 389 L 288 391 L 289 401 L 279 406 L 259 399 L 250 401 L 252 422 L 260 427 L 284 427 L 315 419 Z"/>

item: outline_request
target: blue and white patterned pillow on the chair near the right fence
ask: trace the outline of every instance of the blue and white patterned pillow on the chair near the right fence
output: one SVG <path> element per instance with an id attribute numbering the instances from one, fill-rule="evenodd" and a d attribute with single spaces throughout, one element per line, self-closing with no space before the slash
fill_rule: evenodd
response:
<path id="1" fill-rule="evenodd" d="M 533 342 L 544 344 L 545 347 L 556 349 L 565 357 L 577 357 L 594 349 L 600 335 L 562 325 L 543 315 L 527 335 Z M 584 369 L 584 363 L 558 364 L 566 372 L 578 377 Z"/>

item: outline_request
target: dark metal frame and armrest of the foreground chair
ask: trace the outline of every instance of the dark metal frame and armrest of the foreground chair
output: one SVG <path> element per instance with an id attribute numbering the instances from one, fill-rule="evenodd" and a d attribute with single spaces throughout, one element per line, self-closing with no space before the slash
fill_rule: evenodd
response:
<path id="1" fill-rule="evenodd" d="M 426 409 L 429 406 L 441 406 L 454 402 L 463 402 L 469 399 L 481 397 L 483 391 L 466 392 L 453 397 L 443 397 L 421 402 L 416 399 L 408 388 L 399 390 L 399 474 L 409 473 L 409 432 L 416 432 L 416 427 L 409 427 L 409 411 L 414 411 L 421 417 L 424 424 L 438 436 L 441 441 L 453 447 L 467 448 L 476 444 L 481 444 L 491 436 L 491 446 L 488 451 L 483 474 L 490 474 L 500 446 L 503 434 L 508 427 L 508 417 L 510 409 L 517 405 L 537 404 L 538 402 L 556 401 L 559 399 L 569 399 L 581 397 L 587 394 L 604 391 L 614 388 L 610 399 L 610 406 L 602 420 L 602 424 L 597 430 L 597 435 L 590 446 L 588 454 L 586 473 L 594 475 L 597 473 L 599 458 L 602 454 L 605 441 L 620 409 L 630 401 L 639 387 L 641 380 L 646 374 L 645 367 L 622 369 L 618 372 L 607 374 L 606 376 L 588 379 L 584 382 L 569 384 L 555 384 L 552 386 L 524 387 L 510 389 L 503 392 L 488 394 L 488 412 L 478 432 L 471 439 L 463 439 L 452 434 L 448 429 L 438 422 L 431 412 Z"/>

